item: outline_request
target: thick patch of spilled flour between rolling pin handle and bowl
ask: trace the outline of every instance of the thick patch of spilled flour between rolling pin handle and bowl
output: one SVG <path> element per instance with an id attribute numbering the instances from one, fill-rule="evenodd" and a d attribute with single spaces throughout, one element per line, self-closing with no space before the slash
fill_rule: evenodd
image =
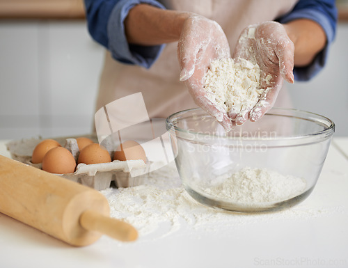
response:
<path id="1" fill-rule="evenodd" d="M 110 188 L 102 194 L 109 200 L 111 216 L 131 223 L 141 235 L 154 232 L 161 223 L 169 223 L 169 235 L 180 229 L 181 221 L 199 226 L 202 221 L 219 217 L 214 209 L 200 205 L 187 194 L 173 164 L 150 173 L 143 185 Z"/>

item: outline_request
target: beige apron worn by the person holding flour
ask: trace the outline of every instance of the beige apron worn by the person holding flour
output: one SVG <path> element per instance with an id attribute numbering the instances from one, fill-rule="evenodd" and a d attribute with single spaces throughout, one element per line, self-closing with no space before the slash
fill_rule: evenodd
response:
<path id="1" fill-rule="evenodd" d="M 164 0 L 172 10 L 191 11 L 218 22 L 226 33 L 231 54 L 242 30 L 258 22 L 276 19 L 294 7 L 296 0 Z M 106 52 L 96 111 L 105 104 L 133 93 L 143 93 L 150 118 L 166 118 L 176 111 L 196 107 L 184 83 L 179 81 L 177 42 L 166 45 L 150 69 L 118 63 Z M 289 107 L 286 90 L 280 90 L 278 107 Z"/>

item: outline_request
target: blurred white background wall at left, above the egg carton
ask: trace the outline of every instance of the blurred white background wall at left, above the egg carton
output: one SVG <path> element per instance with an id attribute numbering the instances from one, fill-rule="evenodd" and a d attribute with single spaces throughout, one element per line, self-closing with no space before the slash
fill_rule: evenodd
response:
<path id="1" fill-rule="evenodd" d="M 89 133 L 103 58 L 85 22 L 0 22 L 0 139 Z"/>

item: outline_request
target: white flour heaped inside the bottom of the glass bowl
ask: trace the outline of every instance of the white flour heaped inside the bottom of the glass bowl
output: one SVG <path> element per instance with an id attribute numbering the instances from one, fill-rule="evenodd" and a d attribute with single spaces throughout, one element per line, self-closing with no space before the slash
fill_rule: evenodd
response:
<path id="1" fill-rule="evenodd" d="M 227 178 L 221 184 L 205 189 L 205 192 L 215 198 L 228 198 L 230 202 L 246 206 L 257 207 L 264 203 L 285 201 L 302 194 L 306 188 L 305 180 L 281 175 L 267 168 L 244 167 L 224 177 Z"/>

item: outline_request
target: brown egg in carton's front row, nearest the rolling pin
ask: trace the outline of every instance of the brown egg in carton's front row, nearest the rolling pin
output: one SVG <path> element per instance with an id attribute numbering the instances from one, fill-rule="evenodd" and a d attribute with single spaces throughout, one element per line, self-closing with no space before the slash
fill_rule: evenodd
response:
<path id="1" fill-rule="evenodd" d="M 42 159 L 42 170 L 50 173 L 68 174 L 73 173 L 75 168 L 72 153 L 63 147 L 52 148 Z"/>

